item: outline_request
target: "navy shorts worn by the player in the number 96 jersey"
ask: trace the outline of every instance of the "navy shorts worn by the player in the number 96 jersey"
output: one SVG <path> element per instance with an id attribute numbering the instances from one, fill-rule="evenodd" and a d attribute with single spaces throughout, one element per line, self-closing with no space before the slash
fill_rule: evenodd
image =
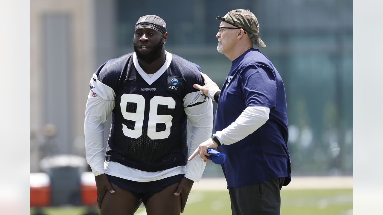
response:
<path id="1" fill-rule="evenodd" d="M 140 202 L 144 202 L 144 204 L 146 205 L 147 200 L 149 200 L 150 197 L 152 197 L 152 195 L 162 191 L 163 189 L 172 184 L 180 182 L 183 176 L 185 176 L 185 174 L 179 174 L 157 181 L 148 182 L 131 181 L 128 179 L 119 178 L 108 174 L 106 176 L 108 176 L 109 181 L 116 184 L 119 188 L 126 189 L 132 192 L 133 195 L 135 195 Z"/>

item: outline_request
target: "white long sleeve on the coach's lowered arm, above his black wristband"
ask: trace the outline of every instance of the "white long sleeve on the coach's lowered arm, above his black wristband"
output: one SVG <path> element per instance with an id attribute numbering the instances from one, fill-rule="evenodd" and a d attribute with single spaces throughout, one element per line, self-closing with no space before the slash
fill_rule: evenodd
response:
<path id="1" fill-rule="evenodd" d="M 222 145 L 236 143 L 264 125 L 269 114 L 270 109 L 266 107 L 247 107 L 236 121 L 214 135 Z"/>

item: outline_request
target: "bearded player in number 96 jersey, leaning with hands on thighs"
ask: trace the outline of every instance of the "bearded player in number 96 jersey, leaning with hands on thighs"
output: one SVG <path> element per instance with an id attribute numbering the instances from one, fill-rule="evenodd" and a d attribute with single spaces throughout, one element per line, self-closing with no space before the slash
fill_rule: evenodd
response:
<path id="1" fill-rule="evenodd" d="M 167 36 L 162 18 L 142 16 L 134 52 L 108 60 L 90 80 L 85 150 L 102 215 L 134 214 L 140 206 L 148 215 L 179 215 L 205 169 L 201 158 L 187 158 L 211 136 L 213 105 L 193 88 L 203 85 L 201 68 L 165 51 Z M 103 131 L 110 114 L 104 161 Z"/>

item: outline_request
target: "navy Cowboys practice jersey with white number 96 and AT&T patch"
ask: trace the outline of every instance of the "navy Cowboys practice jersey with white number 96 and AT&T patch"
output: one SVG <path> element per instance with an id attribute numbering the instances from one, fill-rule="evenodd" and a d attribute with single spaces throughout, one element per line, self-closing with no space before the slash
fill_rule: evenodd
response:
<path id="1" fill-rule="evenodd" d="M 136 64 L 135 54 L 126 54 L 101 65 L 93 75 L 94 85 L 99 81 L 115 94 L 106 161 L 148 172 L 184 166 L 188 156 L 184 108 L 208 101 L 193 88 L 195 83 L 203 85 L 201 69 L 168 53 L 152 77 Z"/>

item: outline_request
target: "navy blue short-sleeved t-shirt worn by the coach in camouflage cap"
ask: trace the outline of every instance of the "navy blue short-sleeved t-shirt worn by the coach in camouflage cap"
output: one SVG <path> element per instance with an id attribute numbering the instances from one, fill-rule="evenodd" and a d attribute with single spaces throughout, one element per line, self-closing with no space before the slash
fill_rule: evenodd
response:
<path id="1" fill-rule="evenodd" d="M 291 181 L 285 88 L 277 69 L 258 49 L 232 61 L 218 99 L 215 131 L 228 127 L 249 106 L 270 108 L 270 116 L 239 142 L 218 147 L 227 155 L 222 169 L 228 187 L 286 177 L 285 186 Z"/>

